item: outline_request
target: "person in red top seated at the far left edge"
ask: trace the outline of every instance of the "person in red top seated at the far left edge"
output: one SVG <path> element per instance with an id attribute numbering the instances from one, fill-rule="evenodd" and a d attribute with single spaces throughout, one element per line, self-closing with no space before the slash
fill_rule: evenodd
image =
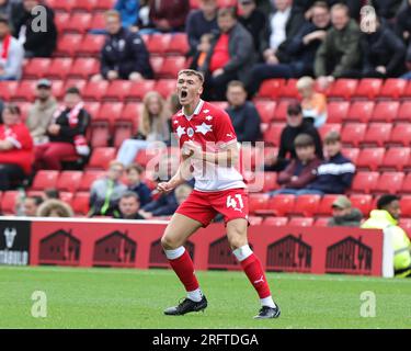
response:
<path id="1" fill-rule="evenodd" d="M 0 125 L 0 191 L 10 190 L 32 173 L 33 139 L 21 122 L 20 109 L 9 104 L 3 109 Z"/>

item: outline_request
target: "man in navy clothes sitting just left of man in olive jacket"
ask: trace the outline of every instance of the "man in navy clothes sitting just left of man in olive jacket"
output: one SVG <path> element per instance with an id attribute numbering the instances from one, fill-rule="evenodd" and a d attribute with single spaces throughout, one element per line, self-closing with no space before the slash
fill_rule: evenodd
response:
<path id="1" fill-rule="evenodd" d="M 311 11 L 312 22 L 304 22 L 295 35 L 287 37 L 278 46 L 269 61 L 254 66 L 249 88 L 251 94 L 259 90 L 265 79 L 312 75 L 317 49 L 330 26 L 330 11 L 327 3 L 321 1 L 316 2 Z"/>

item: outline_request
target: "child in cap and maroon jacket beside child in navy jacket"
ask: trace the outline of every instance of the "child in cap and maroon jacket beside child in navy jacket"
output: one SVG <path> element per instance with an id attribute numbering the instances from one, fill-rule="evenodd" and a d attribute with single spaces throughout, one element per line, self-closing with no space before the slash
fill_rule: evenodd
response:
<path id="1" fill-rule="evenodd" d="M 282 185 L 282 189 L 272 192 L 272 195 L 317 193 L 306 189 L 316 179 L 316 169 L 321 163 L 316 156 L 313 138 L 308 134 L 300 134 L 294 140 L 294 146 L 297 159 L 292 160 L 287 168 L 278 173 L 277 183 Z"/>

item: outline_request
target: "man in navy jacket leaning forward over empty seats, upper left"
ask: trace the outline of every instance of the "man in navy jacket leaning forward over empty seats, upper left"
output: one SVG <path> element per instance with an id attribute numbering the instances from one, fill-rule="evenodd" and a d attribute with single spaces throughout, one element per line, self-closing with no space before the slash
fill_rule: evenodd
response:
<path id="1" fill-rule="evenodd" d="M 105 26 L 107 37 L 101 50 L 100 73 L 92 80 L 152 79 L 149 53 L 141 36 L 122 27 L 119 13 L 115 10 L 105 13 Z"/>

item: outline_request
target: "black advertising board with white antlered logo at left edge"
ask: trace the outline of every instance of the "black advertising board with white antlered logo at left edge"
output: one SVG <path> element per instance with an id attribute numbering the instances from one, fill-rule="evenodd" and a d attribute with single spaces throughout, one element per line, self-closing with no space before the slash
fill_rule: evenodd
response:
<path id="1" fill-rule="evenodd" d="M 30 263 L 28 220 L 0 219 L 0 264 L 27 265 Z"/>

